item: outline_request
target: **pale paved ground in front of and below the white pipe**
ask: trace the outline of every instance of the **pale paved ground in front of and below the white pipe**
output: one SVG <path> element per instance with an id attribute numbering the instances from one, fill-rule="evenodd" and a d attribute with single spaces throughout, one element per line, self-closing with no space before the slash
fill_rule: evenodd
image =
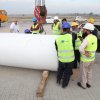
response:
<path id="1" fill-rule="evenodd" d="M 56 83 L 56 72 L 50 72 L 43 97 L 37 97 L 43 71 L 0 66 L 0 100 L 100 100 L 100 54 L 96 55 L 91 88 L 77 86 L 79 69 L 74 70 L 68 87 Z"/>

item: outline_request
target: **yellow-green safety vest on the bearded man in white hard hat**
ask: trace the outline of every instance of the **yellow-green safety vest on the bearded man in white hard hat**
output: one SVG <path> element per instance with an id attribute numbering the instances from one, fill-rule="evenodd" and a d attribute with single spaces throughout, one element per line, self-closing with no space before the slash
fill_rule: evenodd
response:
<path id="1" fill-rule="evenodd" d="M 89 57 L 87 57 L 84 54 L 81 54 L 81 61 L 83 61 L 83 62 L 94 61 L 95 53 L 97 50 L 97 38 L 94 35 L 88 35 L 86 37 L 86 39 L 88 41 L 88 45 L 85 48 L 85 51 L 89 51 L 91 53 L 91 55 Z"/>

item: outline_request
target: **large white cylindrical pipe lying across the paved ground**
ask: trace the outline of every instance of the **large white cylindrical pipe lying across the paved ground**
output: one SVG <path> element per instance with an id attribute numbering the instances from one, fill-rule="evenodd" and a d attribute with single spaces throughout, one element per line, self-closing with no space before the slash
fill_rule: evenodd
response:
<path id="1" fill-rule="evenodd" d="M 57 37 L 0 33 L 0 65 L 57 71 Z"/>

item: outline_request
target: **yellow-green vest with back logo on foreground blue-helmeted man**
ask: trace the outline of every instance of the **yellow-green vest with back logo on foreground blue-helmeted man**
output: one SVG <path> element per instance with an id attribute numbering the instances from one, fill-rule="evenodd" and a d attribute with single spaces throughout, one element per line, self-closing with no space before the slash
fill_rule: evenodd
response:
<path id="1" fill-rule="evenodd" d="M 61 62 L 72 62 L 75 59 L 72 44 L 72 35 L 61 35 L 56 39 L 58 47 L 58 60 Z"/>

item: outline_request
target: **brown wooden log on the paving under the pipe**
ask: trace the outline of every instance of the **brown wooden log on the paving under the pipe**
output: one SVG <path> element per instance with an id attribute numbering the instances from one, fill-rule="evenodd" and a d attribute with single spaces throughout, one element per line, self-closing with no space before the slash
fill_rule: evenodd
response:
<path id="1" fill-rule="evenodd" d="M 36 93 L 38 97 L 43 97 L 44 89 L 46 87 L 48 76 L 49 76 L 49 71 L 43 71 L 42 79 L 41 79 L 40 85 L 39 85 L 37 93 Z"/>

